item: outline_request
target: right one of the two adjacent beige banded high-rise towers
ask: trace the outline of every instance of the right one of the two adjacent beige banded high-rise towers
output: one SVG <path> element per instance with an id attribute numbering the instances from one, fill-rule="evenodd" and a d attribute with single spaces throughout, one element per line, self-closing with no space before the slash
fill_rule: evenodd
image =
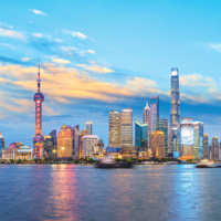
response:
<path id="1" fill-rule="evenodd" d="M 133 146 L 133 109 L 127 108 L 120 112 L 120 147 Z"/>

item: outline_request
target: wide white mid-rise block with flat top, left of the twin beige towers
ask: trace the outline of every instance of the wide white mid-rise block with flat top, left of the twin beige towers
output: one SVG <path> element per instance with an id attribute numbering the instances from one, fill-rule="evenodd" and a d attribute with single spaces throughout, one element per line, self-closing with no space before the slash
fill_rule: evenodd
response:
<path id="1" fill-rule="evenodd" d="M 97 143 L 98 136 L 96 135 L 85 135 L 83 136 L 83 158 L 92 158 L 94 154 L 94 145 Z"/>

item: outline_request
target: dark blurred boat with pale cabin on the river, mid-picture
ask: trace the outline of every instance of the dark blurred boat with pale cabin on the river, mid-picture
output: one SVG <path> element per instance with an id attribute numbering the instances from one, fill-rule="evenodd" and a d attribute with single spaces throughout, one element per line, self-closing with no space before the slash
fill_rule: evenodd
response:
<path id="1" fill-rule="evenodd" d="M 131 162 L 116 162 L 113 156 L 106 156 L 95 166 L 99 169 L 116 169 L 116 168 L 131 168 Z"/>

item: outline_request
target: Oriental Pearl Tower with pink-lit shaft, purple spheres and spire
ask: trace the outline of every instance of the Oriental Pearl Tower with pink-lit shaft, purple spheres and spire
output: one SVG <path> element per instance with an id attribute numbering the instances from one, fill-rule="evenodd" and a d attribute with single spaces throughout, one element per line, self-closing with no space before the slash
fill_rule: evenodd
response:
<path id="1" fill-rule="evenodd" d="M 44 155 L 48 157 L 46 151 L 44 150 L 44 138 L 42 136 L 42 102 L 44 101 L 44 95 L 40 92 L 41 88 L 41 78 L 40 78 L 40 64 L 38 72 L 38 93 L 34 94 L 35 102 L 35 136 L 33 138 L 34 144 L 34 152 L 33 157 L 43 157 Z"/>

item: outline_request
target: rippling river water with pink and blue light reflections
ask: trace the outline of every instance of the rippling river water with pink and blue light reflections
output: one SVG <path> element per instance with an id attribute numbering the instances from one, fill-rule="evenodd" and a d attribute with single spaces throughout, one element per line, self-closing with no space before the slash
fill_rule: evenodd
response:
<path id="1" fill-rule="evenodd" d="M 221 220 L 221 169 L 0 165 L 0 220 Z"/>

